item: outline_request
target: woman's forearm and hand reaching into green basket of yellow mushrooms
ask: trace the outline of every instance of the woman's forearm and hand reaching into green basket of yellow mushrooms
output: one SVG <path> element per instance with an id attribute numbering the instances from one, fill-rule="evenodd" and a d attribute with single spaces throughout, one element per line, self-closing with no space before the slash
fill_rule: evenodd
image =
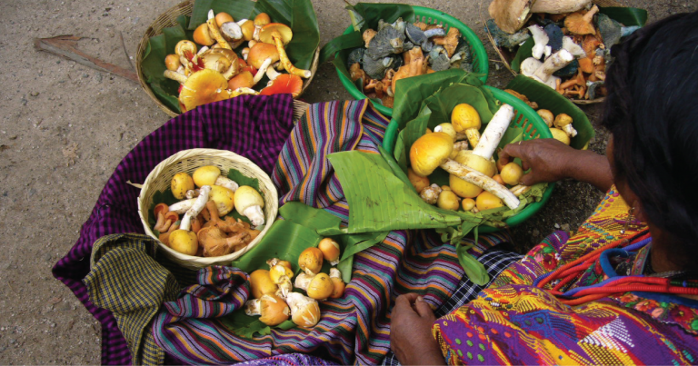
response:
<path id="1" fill-rule="evenodd" d="M 502 163 L 521 159 L 522 183 L 556 182 L 565 178 L 593 184 L 603 192 L 613 185 L 611 165 L 605 156 L 587 150 L 576 150 L 554 139 L 535 139 L 510 143 L 499 153 Z"/>

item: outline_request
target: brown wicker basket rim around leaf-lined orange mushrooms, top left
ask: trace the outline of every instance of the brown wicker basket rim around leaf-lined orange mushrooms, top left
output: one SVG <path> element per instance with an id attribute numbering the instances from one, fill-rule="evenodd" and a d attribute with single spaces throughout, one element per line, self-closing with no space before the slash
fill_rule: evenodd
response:
<path id="1" fill-rule="evenodd" d="M 170 108 L 167 108 L 165 104 L 163 104 L 155 94 L 153 93 L 153 90 L 150 88 L 150 85 L 145 82 L 145 76 L 143 74 L 143 70 L 141 68 L 141 63 L 143 62 L 143 57 L 145 55 L 145 47 L 148 45 L 148 41 L 150 40 L 151 37 L 154 37 L 155 35 L 161 35 L 163 33 L 163 29 L 170 27 L 170 26 L 175 26 L 177 25 L 177 16 L 179 15 L 187 15 L 191 16 L 192 15 L 192 10 L 194 9 L 194 0 L 186 0 L 183 3 L 180 3 L 178 5 L 175 5 L 171 8 L 169 8 L 165 13 L 162 15 L 158 16 L 157 19 L 155 19 L 155 22 L 153 22 L 152 25 L 148 27 L 148 29 L 145 31 L 145 35 L 143 35 L 143 38 L 141 38 L 140 44 L 138 44 L 138 51 L 135 54 L 135 71 L 138 74 L 138 81 L 140 82 L 141 86 L 143 87 L 143 90 L 145 90 L 145 93 L 150 96 L 150 99 L 153 99 L 155 104 L 157 104 L 160 109 L 162 109 L 165 114 L 170 115 L 171 117 L 176 117 L 179 115 L 179 113 L 171 110 Z M 300 95 L 304 94 L 305 89 L 308 88 L 310 85 L 310 82 L 313 81 L 315 71 L 317 70 L 317 64 L 318 64 L 318 59 L 320 57 L 320 48 L 318 47 L 315 49 L 315 54 L 313 56 L 313 63 L 310 65 L 310 72 L 311 75 L 309 78 L 305 79 L 303 82 L 303 89 L 301 90 L 301 93 L 298 94 L 297 97 Z M 165 62 L 165 60 L 163 60 Z M 294 104 L 295 107 L 295 104 Z M 305 108 L 307 109 L 307 108 Z"/>

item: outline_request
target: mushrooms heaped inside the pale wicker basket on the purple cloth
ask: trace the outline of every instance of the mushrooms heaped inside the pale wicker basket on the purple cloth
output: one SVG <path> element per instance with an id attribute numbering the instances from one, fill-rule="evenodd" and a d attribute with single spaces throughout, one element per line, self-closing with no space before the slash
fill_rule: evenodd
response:
<path id="1" fill-rule="evenodd" d="M 194 189 L 198 187 L 198 189 Z M 249 186 L 239 186 L 213 165 L 200 167 L 194 174 L 176 173 L 170 189 L 182 200 L 172 205 L 155 205 L 158 239 L 176 252 L 217 257 L 244 249 L 264 224 L 264 199 Z M 250 222 L 225 217 L 235 209 Z M 184 214 L 181 223 L 179 215 Z"/>

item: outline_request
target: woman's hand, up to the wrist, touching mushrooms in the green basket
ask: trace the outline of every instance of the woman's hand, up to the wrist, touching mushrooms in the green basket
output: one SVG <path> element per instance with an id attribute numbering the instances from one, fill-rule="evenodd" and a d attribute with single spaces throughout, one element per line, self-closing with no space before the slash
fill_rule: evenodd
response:
<path id="1" fill-rule="evenodd" d="M 568 166 L 578 150 L 555 139 L 534 139 L 520 143 L 509 143 L 499 153 L 501 164 L 521 159 L 524 171 L 531 169 L 521 178 L 521 183 L 533 185 L 539 182 L 557 182 L 568 178 Z"/>

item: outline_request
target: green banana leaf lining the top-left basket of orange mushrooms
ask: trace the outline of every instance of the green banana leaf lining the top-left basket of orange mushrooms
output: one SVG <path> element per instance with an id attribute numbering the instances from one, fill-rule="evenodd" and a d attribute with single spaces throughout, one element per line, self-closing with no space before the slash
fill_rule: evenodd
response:
<path id="1" fill-rule="evenodd" d="M 163 35 L 156 35 L 146 45 L 141 68 L 145 82 L 151 86 L 153 93 L 170 110 L 180 113 L 177 100 L 179 84 L 165 78 L 165 56 L 175 53 L 175 45 L 182 39 L 193 40 L 196 26 L 208 18 L 209 9 L 225 12 L 235 20 L 252 19 L 259 13 L 266 13 L 274 23 L 291 26 L 294 38 L 286 45 L 286 53 L 296 67 L 309 69 L 313 63 L 314 52 L 320 44 L 320 29 L 311 0 L 196 0 L 191 19 L 177 18 L 179 25 L 163 29 Z M 235 51 L 240 53 L 241 45 Z M 266 77 L 255 89 L 261 90 L 266 85 Z"/>

